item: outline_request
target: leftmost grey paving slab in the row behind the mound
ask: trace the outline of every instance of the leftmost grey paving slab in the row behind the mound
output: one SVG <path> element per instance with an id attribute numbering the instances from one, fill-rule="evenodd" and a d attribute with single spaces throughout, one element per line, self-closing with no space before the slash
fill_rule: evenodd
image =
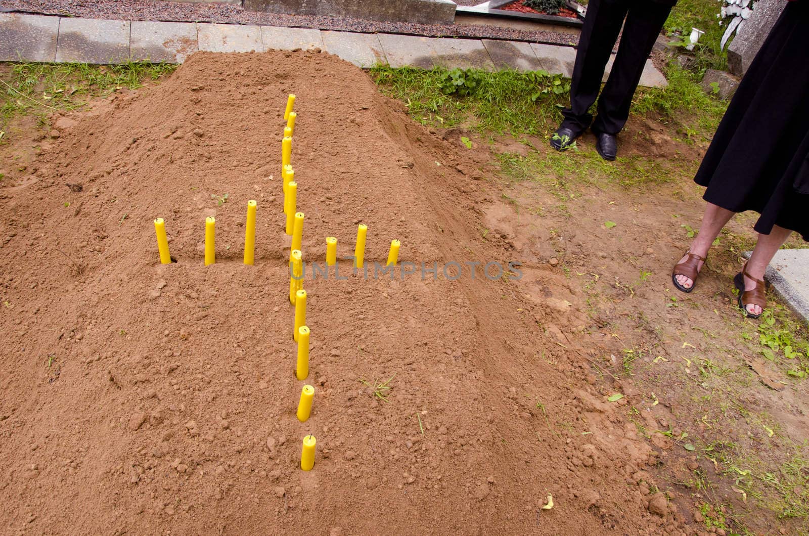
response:
<path id="1" fill-rule="evenodd" d="M 0 13 L 0 61 L 53 62 L 59 17 Z"/>

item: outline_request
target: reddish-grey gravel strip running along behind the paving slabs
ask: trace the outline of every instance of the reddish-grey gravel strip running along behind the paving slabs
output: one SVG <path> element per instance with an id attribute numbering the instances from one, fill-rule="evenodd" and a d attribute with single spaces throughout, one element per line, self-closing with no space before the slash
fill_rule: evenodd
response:
<path id="1" fill-rule="evenodd" d="M 460 0 L 474 5 L 479 0 Z M 230 4 L 167 2 L 166 0 L 3 0 L 0 11 L 19 11 L 42 15 L 70 15 L 88 19 L 162 20 L 178 22 L 208 22 L 261 24 L 293 28 L 320 28 L 343 32 L 404 33 L 416 36 L 458 36 L 484 39 L 524 40 L 566 45 L 578 37 L 568 33 L 547 31 L 527 32 L 497 26 L 472 24 L 413 24 L 376 22 L 348 17 L 309 15 L 274 15 L 245 11 Z"/>

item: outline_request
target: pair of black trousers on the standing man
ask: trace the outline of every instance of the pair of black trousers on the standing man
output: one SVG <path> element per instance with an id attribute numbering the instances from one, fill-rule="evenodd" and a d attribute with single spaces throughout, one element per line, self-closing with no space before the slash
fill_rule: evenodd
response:
<path id="1" fill-rule="evenodd" d="M 618 134 L 629 117 L 629 106 L 641 80 L 646 58 L 666 22 L 671 6 L 650 0 L 590 0 L 578 40 L 570 108 L 562 110 L 562 126 L 581 134 L 591 125 L 594 133 Z M 621 45 L 604 91 L 599 97 L 598 116 L 589 109 L 599 94 L 604 68 L 621 32 Z"/>

